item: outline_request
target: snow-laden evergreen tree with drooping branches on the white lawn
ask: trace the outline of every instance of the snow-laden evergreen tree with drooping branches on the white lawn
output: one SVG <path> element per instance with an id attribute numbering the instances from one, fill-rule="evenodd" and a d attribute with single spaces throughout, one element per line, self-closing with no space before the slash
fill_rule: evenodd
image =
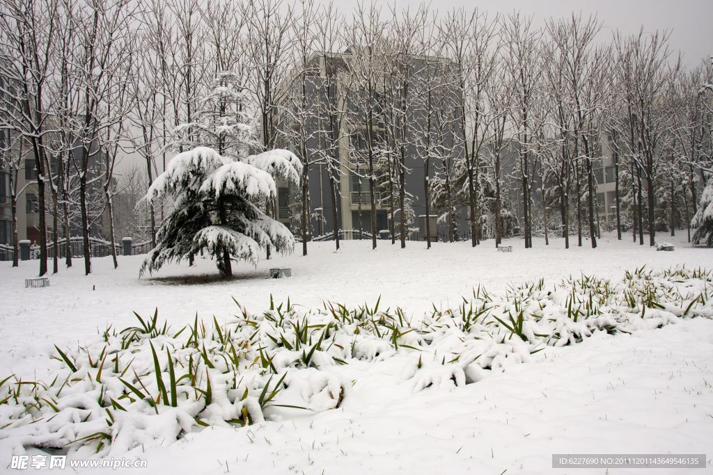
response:
<path id="1" fill-rule="evenodd" d="M 298 184 L 301 171 L 299 159 L 288 150 L 236 160 L 209 147 L 176 155 L 145 197 L 151 202 L 170 195 L 174 202 L 141 275 L 205 250 L 223 276 L 232 276 L 234 259 L 257 264 L 260 249 L 267 246 L 292 251 L 292 233 L 260 204 L 277 196 L 276 177 Z"/>

